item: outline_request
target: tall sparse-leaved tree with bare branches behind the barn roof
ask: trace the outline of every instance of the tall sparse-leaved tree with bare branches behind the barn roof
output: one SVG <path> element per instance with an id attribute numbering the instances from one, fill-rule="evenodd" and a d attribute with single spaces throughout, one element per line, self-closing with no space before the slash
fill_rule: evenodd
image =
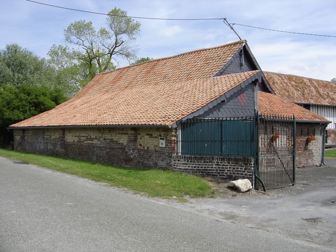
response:
<path id="1" fill-rule="evenodd" d="M 72 81 L 85 86 L 97 73 L 115 68 L 120 59 L 134 59 L 132 41 L 140 32 L 140 23 L 125 17 L 127 12 L 114 8 L 108 12 L 107 28 L 96 30 L 91 21 L 75 21 L 64 31 L 72 48 L 53 45 L 50 63 L 65 71 Z"/>

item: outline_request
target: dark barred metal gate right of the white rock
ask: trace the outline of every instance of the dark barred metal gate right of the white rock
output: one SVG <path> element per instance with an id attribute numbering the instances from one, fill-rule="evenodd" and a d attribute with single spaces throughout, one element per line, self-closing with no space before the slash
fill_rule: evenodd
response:
<path id="1" fill-rule="evenodd" d="M 295 117 L 257 115 L 255 188 L 279 188 L 295 183 Z"/>

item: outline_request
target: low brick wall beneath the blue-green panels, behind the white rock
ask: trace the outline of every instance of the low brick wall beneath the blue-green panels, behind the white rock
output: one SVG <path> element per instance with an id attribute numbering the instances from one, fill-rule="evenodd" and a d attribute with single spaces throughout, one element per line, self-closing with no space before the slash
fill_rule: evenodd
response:
<path id="1" fill-rule="evenodd" d="M 173 170 L 219 178 L 252 176 L 253 158 L 224 158 L 174 155 Z"/>

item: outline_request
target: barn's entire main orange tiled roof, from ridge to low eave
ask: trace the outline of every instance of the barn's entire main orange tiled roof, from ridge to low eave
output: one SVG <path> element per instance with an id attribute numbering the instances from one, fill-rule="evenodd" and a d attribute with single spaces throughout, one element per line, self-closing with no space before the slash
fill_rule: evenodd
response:
<path id="1" fill-rule="evenodd" d="M 11 126 L 172 125 L 258 74 L 213 77 L 243 44 L 101 73 L 67 102 Z"/>

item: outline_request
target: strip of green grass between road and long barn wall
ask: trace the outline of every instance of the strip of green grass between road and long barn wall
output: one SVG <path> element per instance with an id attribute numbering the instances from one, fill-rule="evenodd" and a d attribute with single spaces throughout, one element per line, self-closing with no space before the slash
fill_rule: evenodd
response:
<path id="1" fill-rule="evenodd" d="M 5 149 L 0 149 L 0 156 L 74 174 L 114 187 L 130 189 L 135 193 L 146 193 L 151 197 L 171 198 L 176 196 L 183 201 L 182 197 L 186 195 L 206 197 L 213 196 L 214 193 L 210 185 L 202 178 L 178 172 L 119 167 L 92 161 L 58 158 Z"/>

